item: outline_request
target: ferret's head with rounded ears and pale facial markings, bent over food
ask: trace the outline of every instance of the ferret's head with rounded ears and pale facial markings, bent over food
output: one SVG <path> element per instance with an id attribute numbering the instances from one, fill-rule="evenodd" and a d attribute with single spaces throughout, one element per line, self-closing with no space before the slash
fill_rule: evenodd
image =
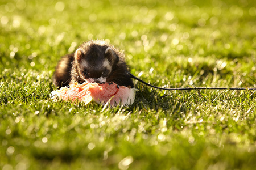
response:
<path id="1" fill-rule="evenodd" d="M 85 42 L 74 54 L 79 76 L 90 83 L 106 82 L 114 65 L 119 61 L 114 49 L 100 42 Z"/>

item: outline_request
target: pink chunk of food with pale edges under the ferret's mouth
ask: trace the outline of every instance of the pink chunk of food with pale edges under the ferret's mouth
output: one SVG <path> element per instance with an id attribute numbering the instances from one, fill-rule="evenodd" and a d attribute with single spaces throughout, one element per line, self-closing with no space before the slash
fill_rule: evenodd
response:
<path id="1" fill-rule="evenodd" d="M 94 100 L 99 104 L 106 104 L 109 101 L 110 105 L 122 103 L 123 105 L 133 104 L 135 99 L 136 88 L 118 86 L 115 83 L 84 83 L 72 84 L 70 88 L 61 87 L 60 90 L 51 92 L 53 100 L 76 100 L 83 101 L 88 104 Z"/>

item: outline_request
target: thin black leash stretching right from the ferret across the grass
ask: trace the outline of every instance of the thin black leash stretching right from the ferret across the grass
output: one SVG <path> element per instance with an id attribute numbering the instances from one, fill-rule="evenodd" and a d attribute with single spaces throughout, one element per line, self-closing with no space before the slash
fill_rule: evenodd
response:
<path id="1" fill-rule="evenodd" d="M 153 86 L 151 84 L 148 84 L 148 83 L 144 82 L 143 80 L 137 78 L 136 76 L 134 76 L 130 72 L 128 72 L 128 74 L 130 75 L 130 78 L 136 79 L 139 82 L 142 82 L 143 84 L 146 84 L 147 86 L 158 88 L 158 89 L 161 89 L 161 90 L 255 90 L 256 91 L 256 88 L 246 88 L 246 87 L 231 87 L 231 88 L 226 88 L 226 87 L 163 88 L 163 87 L 157 87 L 157 86 Z"/>

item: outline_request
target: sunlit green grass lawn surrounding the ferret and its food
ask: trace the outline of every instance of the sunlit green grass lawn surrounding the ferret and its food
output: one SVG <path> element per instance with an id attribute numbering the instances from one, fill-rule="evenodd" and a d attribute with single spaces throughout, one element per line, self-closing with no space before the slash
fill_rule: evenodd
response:
<path id="1" fill-rule="evenodd" d="M 255 91 L 163 91 L 135 103 L 53 102 L 61 56 L 125 50 L 156 86 L 256 87 L 256 2 L 0 2 L 1 169 L 254 169 Z"/>

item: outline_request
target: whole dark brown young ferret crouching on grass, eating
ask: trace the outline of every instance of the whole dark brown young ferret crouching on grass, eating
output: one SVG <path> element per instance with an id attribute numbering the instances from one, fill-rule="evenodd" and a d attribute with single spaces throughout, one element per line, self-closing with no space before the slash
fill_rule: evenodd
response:
<path id="1" fill-rule="evenodd" d="M 69 86 L 74 82 L 106 83 L 134 87 L 123 53 L 104 40 L 89 40 L 73 54 L 63 56 L 55 68 L 53 84 Z"/>

